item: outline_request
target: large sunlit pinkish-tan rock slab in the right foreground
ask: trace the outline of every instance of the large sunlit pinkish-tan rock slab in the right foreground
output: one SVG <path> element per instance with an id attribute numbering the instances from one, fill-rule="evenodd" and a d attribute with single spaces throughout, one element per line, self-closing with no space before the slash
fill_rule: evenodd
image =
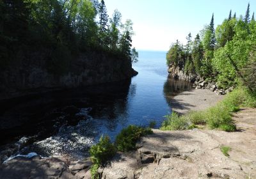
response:
<path id="1" fill-rule="evenodd" d="M 256 109 L 235 114 L 238 132 L 154 130 L 136 152 L 116 155 L 102 178 L 256 178 L 255 116 Z M 231 148 L 229 157 L 221 146 Z"/>

